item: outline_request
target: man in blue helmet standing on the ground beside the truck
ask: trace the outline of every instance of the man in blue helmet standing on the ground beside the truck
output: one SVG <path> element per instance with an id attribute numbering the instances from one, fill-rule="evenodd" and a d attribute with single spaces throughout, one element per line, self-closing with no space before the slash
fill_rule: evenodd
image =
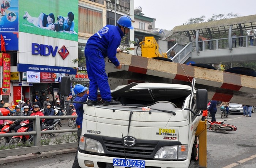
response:
<path id="1" fill-rule="evenodd" d="M 89 91 L 86 92 L 86 87 L 84 87 L 83 85 L 77 84 L 75 85 L 73 91 L 76 94 L 76 98 L 74 99 L 74 101 L 76 102 L 86 102 L 87 98 L 88 98 L 88 94 Z M 81 103 L 74 103 L 74 107 L 76 109 L 76 114 L 77 114 L 77 118 L 76 118 L 76 124 L 78 127 L 77 130 L 77 136 L 78 136 L 78 150 L 79 150 L 79 139 L 80 139 L 80 135 L 82 134 L 82 123 L 83 123 L 83 104 Z M 75 160 L 73 163 L 72 168 L 79 168 L 79 164 L 78 164 L 78 159 L 77 159 L 77 152 L 76 152 L 76 156 L 75 156 Z"/>

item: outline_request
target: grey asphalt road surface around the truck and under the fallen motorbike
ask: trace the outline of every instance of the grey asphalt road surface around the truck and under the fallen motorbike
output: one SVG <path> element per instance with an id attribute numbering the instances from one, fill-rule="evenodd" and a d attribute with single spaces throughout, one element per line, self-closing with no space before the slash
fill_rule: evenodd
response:
<path id="1" fill-rule="evenodd" d="M 256 167 L 256 113 L 251 118 L 242 114 L 230 114 L 225 123 L 237 126 L 237 131 L 228 134 L 207 130 L 208 168 L 254 168 Z M 210 118 L 211 119 L 211 118 Z M 217 121 L 223 121 L 219 110 Z M 63 129 L 65 122 L 63 122 Z M 67 126 L 68 128 L 68 126 Z M 69 168 L 72 167 L 75 153 L 42 157 L 0 165 L 1 168 Z M 198 167 L 198 161 L 191 161 L 189 168 Z"/>

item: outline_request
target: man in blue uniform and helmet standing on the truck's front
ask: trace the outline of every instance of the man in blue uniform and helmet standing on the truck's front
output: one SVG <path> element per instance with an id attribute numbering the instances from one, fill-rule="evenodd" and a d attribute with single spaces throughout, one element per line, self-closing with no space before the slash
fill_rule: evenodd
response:
<path id="1" fill-rule="evenodd" d="M 117 24 L 117 26 L 106 25 L 91 36 L 86 43 L 84 55 L 87 74 L 90 79 L 88 106 L 101 104 L 101 102 L 97 101 L 98 88 L 104 101 L 104 106 L 120 104 L 111 96 L 104 58 L 108 57 L 117 69 L 122 68 L 116 58 L 117 48 L 121 43 L 121 38 L 129 33 L 133 26 L 132 20 L 128 16 L 121 16 L 117 20 Z"/>

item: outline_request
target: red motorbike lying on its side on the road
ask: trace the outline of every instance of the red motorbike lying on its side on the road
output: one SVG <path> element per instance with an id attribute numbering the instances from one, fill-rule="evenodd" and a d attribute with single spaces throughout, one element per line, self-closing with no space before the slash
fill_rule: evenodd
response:
<path id="1" fill-rule="evenodd" d="M 227 121 L 227 120 L 224 120 Z M 236 131 L 237 127 L 231 124 L 225 124 L 224 121 L 218 122 L 218 121 L 213 121 L 210 122 L 209 120 L 206 120 L 207 126 L 206 128 L 215 132 L 220 132 L 220 133 L 229 133 L 228 131 Z"/>

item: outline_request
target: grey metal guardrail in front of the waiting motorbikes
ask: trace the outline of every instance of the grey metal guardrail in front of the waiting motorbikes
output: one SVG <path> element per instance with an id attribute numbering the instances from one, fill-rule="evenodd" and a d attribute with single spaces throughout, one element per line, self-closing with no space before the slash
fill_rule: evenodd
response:
<path id="1" fill-rule="evenodd" d="M 34 123 L 34 130 L 35 131 L 29 131 L 29 132 L 23 132 L 23 133 L 5 133 L 0 134 L 0 137 L 11 137 L 16 135 L 34 135 L 33 144 L 32 147 L 25 147 L 25 148 L 16 148 L 16 149 L 5 149 L 0 150 L 0 158 L 1 157 L 7 157 L 7 156 L 14 156 L 14 155 L 20 155 L 20 154 L 28 154 L 28 153 L 37 153 L 37 152 L 47 152 L 52 150 L 61 150 L 61 149 L 71 149 L 71 148 L 77 148 L 78 142 L 72 142 L 72 143 L 65 143 L 65 144 L 54 144 L 54 145 L 44 145 L 41 146 L 40 143 L 40 137 L 41 134 L 49 134 L 49 133 L 66 133 L 66 132 L 74 132 L 77 131 L 77 129 L 63 129 L 63 130 L 47 130 L 47 131 L 41 131 L 41 124 L 40 119 L 69 119 L 69 118 L 77 118 L 77 116 L 69 115 L 69 116 L 0 116 L 0 119 L 33 119 Z"/>

